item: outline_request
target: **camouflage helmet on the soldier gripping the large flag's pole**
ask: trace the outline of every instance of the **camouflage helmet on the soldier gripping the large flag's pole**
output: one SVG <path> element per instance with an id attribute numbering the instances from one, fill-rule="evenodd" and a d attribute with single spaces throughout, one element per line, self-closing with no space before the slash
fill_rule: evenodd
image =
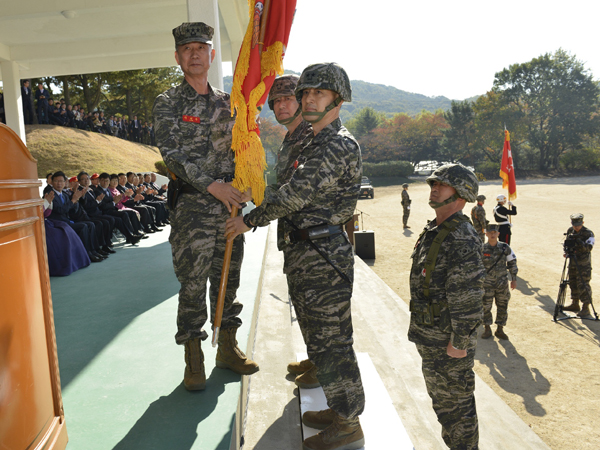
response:
<path id="1" fill-rule="evenodd" d="M 296 99 L 302 101 L 304 89 L 328 89 L 337 92 L 342 100 L 352 101 L 352 86 L 346 71 L 336 63 L 311 64 L 302 71 L 298 86 L 296 86 Z"/>

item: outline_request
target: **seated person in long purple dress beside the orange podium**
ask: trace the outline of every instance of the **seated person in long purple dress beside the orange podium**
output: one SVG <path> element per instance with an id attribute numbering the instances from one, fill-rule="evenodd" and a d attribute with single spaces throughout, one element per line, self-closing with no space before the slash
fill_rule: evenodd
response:
<path id="1" fill-rule="evenodd" d="M 52 213 L 54 191 L 44 195 L 44 227 L 46 229 L 46 251 L 48 269 L 52 277 L 65 277 L 90 265 L 90 257 L 77 236 L 66 223 L 48 217 Z"/>

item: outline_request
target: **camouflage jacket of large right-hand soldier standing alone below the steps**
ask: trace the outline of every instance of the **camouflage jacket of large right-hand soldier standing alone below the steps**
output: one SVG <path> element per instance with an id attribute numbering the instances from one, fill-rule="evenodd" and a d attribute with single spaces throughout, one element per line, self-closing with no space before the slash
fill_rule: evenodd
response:
<path id="1" fill-rule="evenodd" d="M 451 221 L 457 212 L 446 219 Z M 446 236 L 440 245 L 429 284 L 429 297 L 424 293 L 425 261 L 433 240 L 442 229 L 435 220 L 427 224 L 424 234 L 412 253 L 410 272 L 411 304 L 438 303 L 441 317 L 433 325 L 419 324 L 411 314 L 408 339 L 427 346 L 445 347 L 448 341 L 454 348 L 464 350 L 476 339 L 474 333 L 483 316 L 483 281 L 485 270 L 481 255 L 481 241 L 466 220 Z M 412 309 L 412 306 L 411 306 Z"/>

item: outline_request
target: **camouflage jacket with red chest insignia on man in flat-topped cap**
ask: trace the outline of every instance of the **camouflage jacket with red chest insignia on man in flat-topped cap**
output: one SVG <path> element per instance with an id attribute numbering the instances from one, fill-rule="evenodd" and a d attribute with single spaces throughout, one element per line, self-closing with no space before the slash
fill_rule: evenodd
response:
<path id="1" fill-rule="evenodd" d="M 206 188 L 235 172 L 229 94 L 209 84 L 208 94 L 200 95 L 184 80 L 156 98 L 153 115 L 156 144 L 169 170 L 200 192 L 204 212 L 227 213 Z"/>

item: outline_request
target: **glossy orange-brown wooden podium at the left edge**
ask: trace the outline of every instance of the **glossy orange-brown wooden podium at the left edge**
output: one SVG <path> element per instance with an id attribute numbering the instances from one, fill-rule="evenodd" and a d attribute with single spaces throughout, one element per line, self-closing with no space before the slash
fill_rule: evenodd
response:
<path id="1" fill-rule="evenodd" d="M 37 162 L 0 124 L 0 448 L 62 450 L 60 392 Z"/>

